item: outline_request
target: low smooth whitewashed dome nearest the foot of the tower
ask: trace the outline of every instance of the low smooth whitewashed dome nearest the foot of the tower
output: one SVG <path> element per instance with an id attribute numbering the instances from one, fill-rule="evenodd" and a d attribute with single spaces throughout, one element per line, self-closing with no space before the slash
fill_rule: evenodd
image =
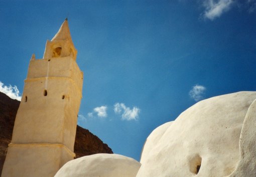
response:
<path id="1" fill-rule="evenodd" d="M 76 158 L 64 164 L 55 177 L 133 177 L 141 163 L 118 154 L 98 153 Z"/>

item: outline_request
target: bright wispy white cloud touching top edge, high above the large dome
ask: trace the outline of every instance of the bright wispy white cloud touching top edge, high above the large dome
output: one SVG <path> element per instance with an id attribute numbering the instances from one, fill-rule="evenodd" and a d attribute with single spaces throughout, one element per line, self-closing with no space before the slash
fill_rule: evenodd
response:
<path id="1" fill-rule="evenodd" d="M 203 6 L 205 7 L 205 11 L 203 16 L 213 20 L 223 12 L 228 11 L 233 3 L 234 0 L 204 0 Z"/>

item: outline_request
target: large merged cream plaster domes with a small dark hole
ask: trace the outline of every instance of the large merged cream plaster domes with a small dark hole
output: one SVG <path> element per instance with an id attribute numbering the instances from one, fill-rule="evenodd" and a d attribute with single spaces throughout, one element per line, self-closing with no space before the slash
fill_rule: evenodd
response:
<path id="1" fill-rule="evenodd" d="M 160 126 L 145 143 L 137 176 L 256 176 L 255 98 L 242 91 L 205 99 Z"/>

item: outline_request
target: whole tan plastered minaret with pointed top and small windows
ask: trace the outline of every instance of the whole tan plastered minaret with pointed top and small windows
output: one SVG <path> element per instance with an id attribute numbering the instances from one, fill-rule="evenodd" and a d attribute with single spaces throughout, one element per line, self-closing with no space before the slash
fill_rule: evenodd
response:
<path id="1" fill-rule="evenodd" d="M 30 60 L 2 176 L 54 176 L 74 158 L 83 73 L 65 19 L 44 57 Z"/>

